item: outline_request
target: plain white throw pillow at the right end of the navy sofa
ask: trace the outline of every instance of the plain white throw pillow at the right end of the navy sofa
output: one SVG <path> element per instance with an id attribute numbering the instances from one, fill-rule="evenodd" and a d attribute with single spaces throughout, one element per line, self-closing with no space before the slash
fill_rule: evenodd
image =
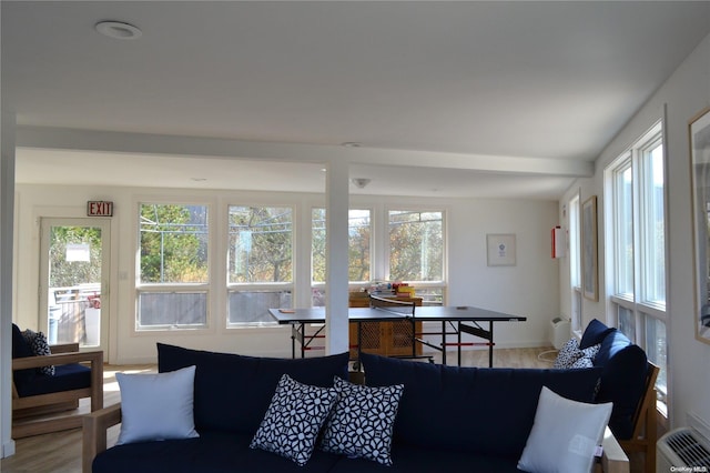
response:
<path id="1" fill-rule="evenodd" d="M 610 402 L 571 401 L 542 386 L 518 469 L 534 473 L 589 472 L 610 415 Z"/>

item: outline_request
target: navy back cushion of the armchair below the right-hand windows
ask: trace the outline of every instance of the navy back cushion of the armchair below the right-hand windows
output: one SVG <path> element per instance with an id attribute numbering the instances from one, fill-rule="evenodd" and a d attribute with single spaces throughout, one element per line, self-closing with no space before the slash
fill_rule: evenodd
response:
<path id="1" fill-rule="evenodd" d="M 646 352 L 612 329 L 601 342 L 595 365 L 602 369 L 597 402 L 613 402 L 609 429 L 617 439 L 630 439 L 633 414 L 646 389 Z"/>

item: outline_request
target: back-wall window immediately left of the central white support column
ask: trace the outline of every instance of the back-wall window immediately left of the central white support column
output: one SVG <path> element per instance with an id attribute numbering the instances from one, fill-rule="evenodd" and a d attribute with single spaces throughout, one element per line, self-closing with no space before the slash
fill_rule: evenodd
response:
<path id="1" fill-rule="evenodd" d="M 291 306 L 293 209 L 229 208 L 230 325 L 273 324 L 268 308 Z"/>

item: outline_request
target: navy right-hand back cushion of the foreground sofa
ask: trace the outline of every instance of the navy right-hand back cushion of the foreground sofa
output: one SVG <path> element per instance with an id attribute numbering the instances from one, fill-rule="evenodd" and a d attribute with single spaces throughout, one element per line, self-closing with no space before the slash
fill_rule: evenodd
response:
<path id="1" fill-rule="evenodd" d="M 489 455 L 523 453 L 542 386 L 592 402 L 601 369 L 444 366 L 362 354 L 367 385 L 404 384 L 395 442 Z"/>

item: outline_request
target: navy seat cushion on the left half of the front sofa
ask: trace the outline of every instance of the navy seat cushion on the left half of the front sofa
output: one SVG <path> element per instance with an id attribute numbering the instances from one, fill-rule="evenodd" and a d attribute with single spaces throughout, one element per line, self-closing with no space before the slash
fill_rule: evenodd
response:
<path id="1" fill-rule="evenodd" d="M 93 461 L 94 473 L 272 473 L 328 472 L 339 456 L 315 450 L 308 463 L 296 463 L 263 450 L 250 449 L 252 435 L 200 432 L 197 439 L 116 445 Z M 372 462 L 371 462 L 372 463 Z"/>

